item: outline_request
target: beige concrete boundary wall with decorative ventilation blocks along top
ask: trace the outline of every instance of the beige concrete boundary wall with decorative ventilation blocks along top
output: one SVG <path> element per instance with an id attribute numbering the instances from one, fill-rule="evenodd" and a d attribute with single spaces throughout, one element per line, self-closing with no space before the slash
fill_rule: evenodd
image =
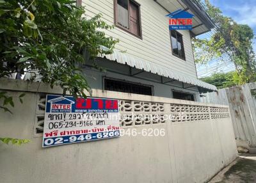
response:
<path id="1" fill-rule="evenodd" d="M 121 124 L 124 131 L 164 129 L 164 136 L 122 136 L 42 148 L 42 136 L 35 131 L 36 116 L 44 110 L 42 96 L 61 89 L 0 79 L 0 90 L 13 97 L 26 93 L 24 104 L 15 99 L 13 115 L 0 111 L 0 136 L 31 139 L 20 147 L 0 143 L 0 182 L 205 182 L 237 156 L 228 106 L 93 90 L 93 97 L 119 99 L 120 106 L 129 102 L 132 109 L 147 103 L 152 110 L 148 113 L 154 115 L 176 114 L 188 107 L 184 113 L 191 117 Z M 120 113 L 129 111 L 123 107 Z"/>

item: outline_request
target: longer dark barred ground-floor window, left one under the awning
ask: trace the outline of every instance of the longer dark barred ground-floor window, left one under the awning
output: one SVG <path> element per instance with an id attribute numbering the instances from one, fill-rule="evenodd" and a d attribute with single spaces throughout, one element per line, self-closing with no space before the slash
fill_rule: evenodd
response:
<path id="1" fill-rule="evenodd" d="M 141 95 L 153 95 L 153 86 L 112 78 L 104 78 L 104 90 L 136 93 Z"/>

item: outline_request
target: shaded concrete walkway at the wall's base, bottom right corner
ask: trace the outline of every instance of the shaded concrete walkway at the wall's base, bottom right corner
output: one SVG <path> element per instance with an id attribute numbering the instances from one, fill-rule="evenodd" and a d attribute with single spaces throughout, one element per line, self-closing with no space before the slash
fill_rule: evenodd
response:
<path id="1" fill-rule="evenodd" d="M 256 182 L 256 154 L 241 154 L 218 173 L 210 183 L 216 182 Z"/>

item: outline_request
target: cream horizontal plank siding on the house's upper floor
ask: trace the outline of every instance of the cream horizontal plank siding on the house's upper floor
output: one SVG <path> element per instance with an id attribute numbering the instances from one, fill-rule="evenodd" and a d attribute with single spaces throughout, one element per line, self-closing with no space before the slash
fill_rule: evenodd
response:
<path id="1" fill-rule="evenodd" d="M 168 17 L 165 17 L 168 12 L 154 1 L 138 0 L 136 2 L 141 4 L 142 39 L 117 27 L 107 30 L 107 36 L 120 40 L 116 45 L 116 50 L 126 51 L 127 55 L 134 58 L 157 63 L 162 67 L 170 68 L 173 72 L 196 78 L 195 60 L 189 31 L 179 31 L 184 42 L 186 56 L 186 61 L 184 61 L 172 54 Z M 102 13 L 102 20 L 107 24 L 114 24 L 113 0 L 83 0 L 83 6 L 86 6 L 88 18 Z"/>

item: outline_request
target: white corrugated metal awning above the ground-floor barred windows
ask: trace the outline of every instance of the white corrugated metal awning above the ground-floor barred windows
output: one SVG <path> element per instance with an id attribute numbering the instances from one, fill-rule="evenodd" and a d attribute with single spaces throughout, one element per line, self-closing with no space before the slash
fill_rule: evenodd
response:
<path id="1" fill-rule="evenodd" d="M 100 57 L 107 58 L 108 60 L 117 61 L 118 63 L 127 64 L 131 67 L 145 70 L 159 76 L 169 77 L 170 79 L 175 79 L 183 83 L 199 86 L 207 90 L 217 90 L 216 86 L 212 84 L 205 83 L 203 81 L 200 81 L 199 79 L 184 76 L 183 74 L 170 70 L 170 68 L 165 68 L 163 66 L 157 65 L 156 63 L 141 60 L 140 58 L 134 58 L 133 56 L 129 56 L 128 54 L 124 54 L 122 52 L 114 51 L 113 54 L 108 54 Z"/>

